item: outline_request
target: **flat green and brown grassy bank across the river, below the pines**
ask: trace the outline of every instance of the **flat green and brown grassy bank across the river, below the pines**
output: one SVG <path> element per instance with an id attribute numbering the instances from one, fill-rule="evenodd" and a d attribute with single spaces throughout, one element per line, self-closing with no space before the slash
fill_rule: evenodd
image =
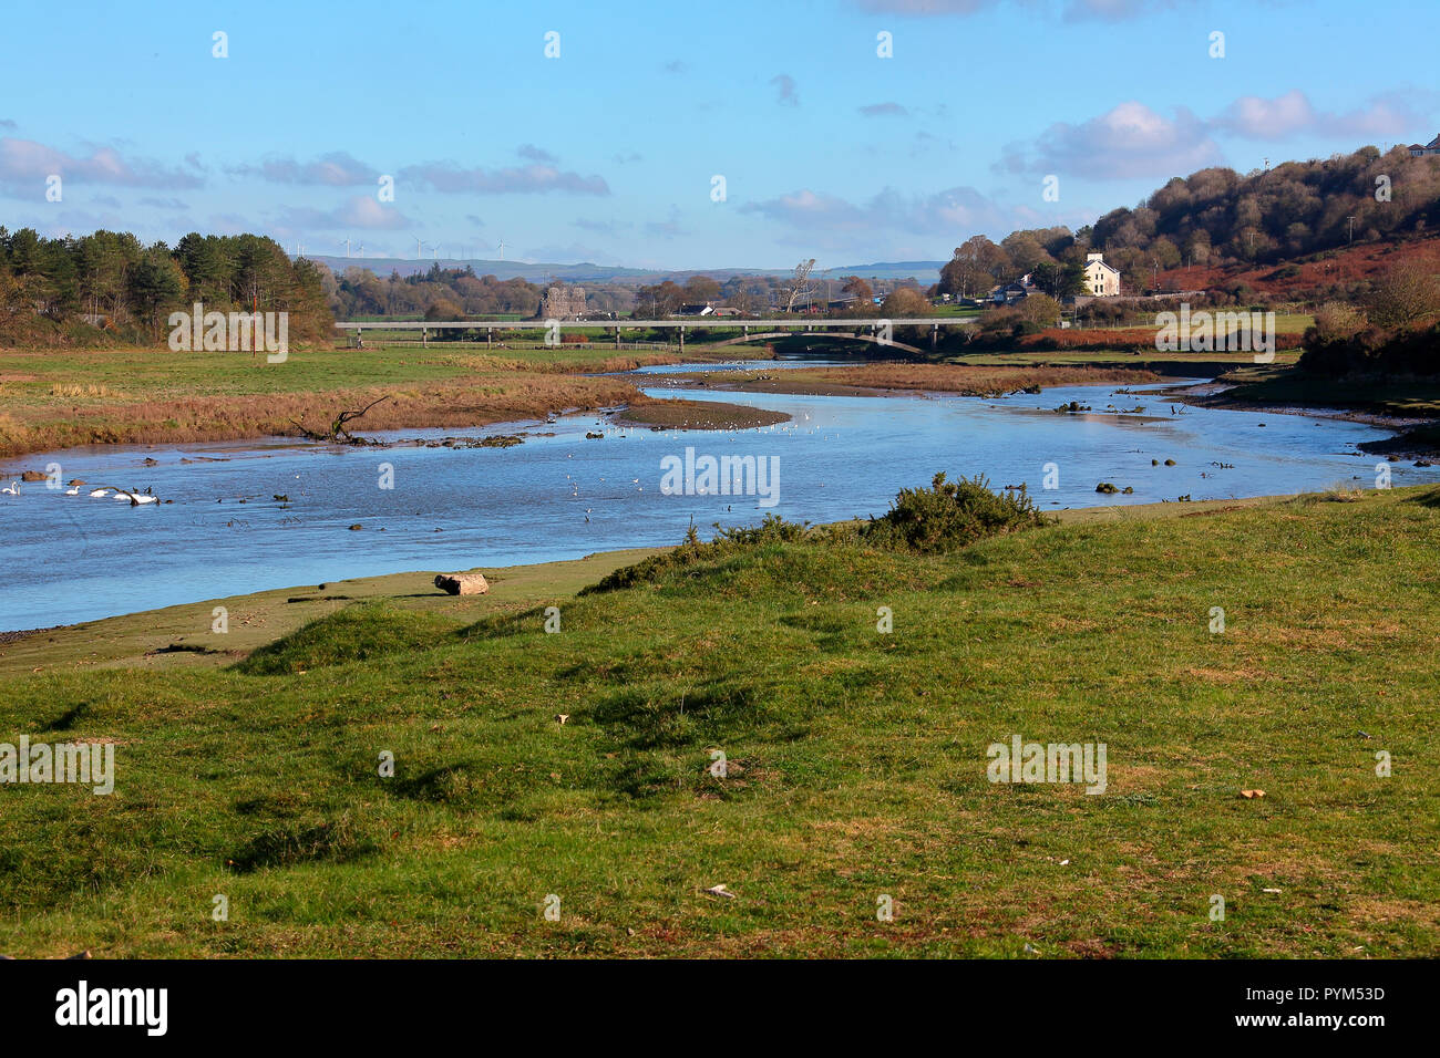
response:
<path id="1" fill-rule="evenodd" d="M 294 350 L 282 364 L 246 353 L 0 351 L 0 456 L 91 443 L 189 443 L 298 435 L 338 410 L 390 399 L 356 432 L 484 426 L 570 407 L 625 403 L 626 379 L 588 377 L 668 354 L 606 350 L 513 358 L 444 348 Z"/>

